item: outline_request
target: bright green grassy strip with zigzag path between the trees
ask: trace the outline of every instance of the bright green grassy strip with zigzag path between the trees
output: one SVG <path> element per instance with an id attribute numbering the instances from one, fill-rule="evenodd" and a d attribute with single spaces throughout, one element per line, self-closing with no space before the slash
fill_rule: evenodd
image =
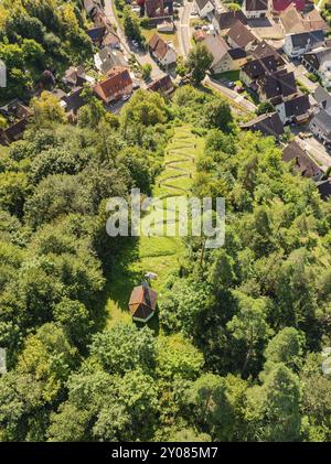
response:
<path id="1" fill-rule="evenodd" d="M 153 198 L 160 198 L 160 201 L 142 218 L 142 225 L 150 222 L 150 215 L 152 215 L 154 228 L 163 227 L 166 198 L 190 195 L 195 160 L 201 154 L 204 143 L 204 140 L 194 136 L 191 129 L 189 125 L 174 129 L 174 136 L 166 149 L 163 170 L 156 179 L 152 192 Z M 173 223 L 178 226 L 178 218 L 174 215 Z M 160 299 L 164 281 L 180 266 L 184 253 L 184 244 L 178 235 L 174 237 L 141 236 L 136 242 L 132 241 L 132 247 L 124 251 L 118 263 L 113 268 L 111 280 L 107 284 L 108 325 L 111 326 L 119 321 L 131 322 L 128 300 L 132 287 L 141 282 L 147 271 L 158 274 L 158 279 L 153 281 L 153 288 L 159 292 Z M 156 317 L 151 319 L 150 324 L 157 328 Z"/>

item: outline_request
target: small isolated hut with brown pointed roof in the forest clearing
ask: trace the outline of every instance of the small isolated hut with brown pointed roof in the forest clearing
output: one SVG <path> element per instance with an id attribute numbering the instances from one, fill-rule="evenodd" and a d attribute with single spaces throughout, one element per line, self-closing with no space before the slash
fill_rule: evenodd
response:
<path id="1" fill-rule="evenodd" d="M 134 321 L 149 321 L 157 309 L 158 294 L 147 283 L 135 287 L 129 301 L 129 310 Z"/>

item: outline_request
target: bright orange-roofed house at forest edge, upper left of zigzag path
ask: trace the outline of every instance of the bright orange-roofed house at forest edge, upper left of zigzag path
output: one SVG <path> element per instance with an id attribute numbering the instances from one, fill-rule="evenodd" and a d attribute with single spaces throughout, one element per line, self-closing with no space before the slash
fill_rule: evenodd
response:
<path id="1" fill-rule="evenodd" d="M 132 93 L 132 79 L 129 71 L 122 66 L 115 66 L 108 73 L 106 80 L 93 87 L 93 91 L 105 105 L 119 100 L 125 95 L 130 95 Z"/>

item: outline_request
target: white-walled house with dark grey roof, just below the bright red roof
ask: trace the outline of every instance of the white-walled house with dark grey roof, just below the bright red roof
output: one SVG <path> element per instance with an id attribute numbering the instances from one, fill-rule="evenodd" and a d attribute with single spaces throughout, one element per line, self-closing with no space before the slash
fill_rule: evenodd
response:
<path id="1" fill-rule="evenodd" d="M 324 43 L 323 31 L 302 32 L 299 34 L 286 35 L 284 51 L 290 58 L 302 56 Z"/>

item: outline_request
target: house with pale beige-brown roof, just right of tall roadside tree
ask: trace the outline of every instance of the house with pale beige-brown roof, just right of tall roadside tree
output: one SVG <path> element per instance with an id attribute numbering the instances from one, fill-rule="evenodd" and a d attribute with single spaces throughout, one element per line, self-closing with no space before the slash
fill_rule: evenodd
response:
<path id="1" fill-rule="evenodd" d="M 214 60 L 211 71 L 214 74 L 237 71 L 246 63 L 246 52 L 242 48 L 231 50 L 225 40 L 218 34 L 207 35 L 203 44 L 213 55 Z"/>

